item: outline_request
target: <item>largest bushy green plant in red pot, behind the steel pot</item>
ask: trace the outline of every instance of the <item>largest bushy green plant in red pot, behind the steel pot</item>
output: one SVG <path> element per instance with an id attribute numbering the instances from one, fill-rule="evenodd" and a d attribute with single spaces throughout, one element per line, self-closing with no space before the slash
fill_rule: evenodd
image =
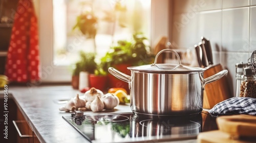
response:
<path id="1" fill-rule="evenodd" d="M 109 67 L 115 67 L 122 73 L 131 75 L 128 66 L 138 66 L 150 64 L 154 60 L 154 55 L 150 54 L 150 47 L 145 44 L 146 38 L 142 33 L 135 33 L 133 40 L 120 40 L 117 45 L 112 46 L 110 51 L 101 58 L 102 67 L 108 71 Z M 129 86 L 126 82 L 118 80 L 114 76 L 108 74 L 109 86 L 122 87 L 129 91 Z"/>

